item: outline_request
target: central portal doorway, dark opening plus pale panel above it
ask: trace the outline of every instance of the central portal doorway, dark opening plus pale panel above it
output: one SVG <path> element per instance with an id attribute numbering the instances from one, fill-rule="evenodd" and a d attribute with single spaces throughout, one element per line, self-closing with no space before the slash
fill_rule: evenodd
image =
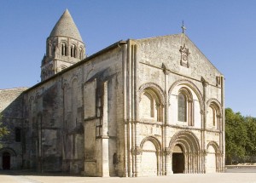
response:
<path id="1" fill-rule="evenodd" d="M 172 152 L 172 171 L 173 174 L 183 174 L 185 169 L 184 154 L 181 146 L 174 146 Z"/>

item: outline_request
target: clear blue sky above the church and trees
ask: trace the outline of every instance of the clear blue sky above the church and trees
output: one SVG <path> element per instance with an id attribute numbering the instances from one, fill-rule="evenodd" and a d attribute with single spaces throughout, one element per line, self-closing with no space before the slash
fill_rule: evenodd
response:
<path id="1" fill-rule="evenodd" d="M 40 81 L 46 38 L 68 9 L 94 54 L 121 39 L 186 34 L 225 77 L 225 105 L 256 117 L 256 1 L 24 0 L 0 3 L 0 89 Z"/>

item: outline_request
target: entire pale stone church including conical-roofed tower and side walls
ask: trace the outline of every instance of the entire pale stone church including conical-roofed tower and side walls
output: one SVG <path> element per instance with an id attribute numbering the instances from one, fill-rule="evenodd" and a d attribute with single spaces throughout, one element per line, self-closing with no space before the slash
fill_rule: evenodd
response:
<path id="1" fill-rule="evenodd" d="M 119 41 L 85 58 L 66 10 L 46 44 L 41 83 L 0 90 L 10 129 L 0 169 L 224 171 L 224 76 L 184 33 Z"/>

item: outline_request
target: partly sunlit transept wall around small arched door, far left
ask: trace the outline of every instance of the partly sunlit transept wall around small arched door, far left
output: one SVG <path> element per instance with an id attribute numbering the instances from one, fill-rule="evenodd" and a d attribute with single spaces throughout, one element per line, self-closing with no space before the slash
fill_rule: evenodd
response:
<path id="1" fill-rule="evenodd" d="M 0 140 L 0 169 L 3 169 L 3 153 L 10 154 L 10 169 L 22 168 L 23 92 L 27 88 L 0 89 L 1 122 L 9 134 Z M 19 137 L 16 129 L 20 131 Z"/>

